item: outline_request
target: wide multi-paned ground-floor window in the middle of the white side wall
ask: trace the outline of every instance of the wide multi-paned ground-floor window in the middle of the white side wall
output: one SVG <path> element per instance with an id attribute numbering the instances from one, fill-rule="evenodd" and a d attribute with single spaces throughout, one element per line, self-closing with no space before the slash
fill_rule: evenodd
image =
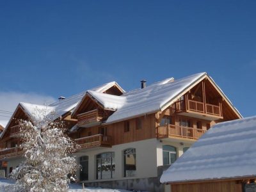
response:
<path id="1" fill-rule="evenodd" d="M 115 177 L 115 153 L 106 152 L 96 156 L 96 179 Z"/>

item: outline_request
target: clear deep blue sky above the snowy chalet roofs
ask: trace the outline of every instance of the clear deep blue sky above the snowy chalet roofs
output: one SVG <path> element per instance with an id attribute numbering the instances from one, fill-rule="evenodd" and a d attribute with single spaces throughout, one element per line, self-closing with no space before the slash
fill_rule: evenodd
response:
<path id="1" fill-rule="evenodd" d="M 255 10 L 256 1 L 0 1 L 0 93 L 48 102 L 205 71 L 243 116 L 256 115 Z M 12 111 L 1 94 L 0 110 Z"/>

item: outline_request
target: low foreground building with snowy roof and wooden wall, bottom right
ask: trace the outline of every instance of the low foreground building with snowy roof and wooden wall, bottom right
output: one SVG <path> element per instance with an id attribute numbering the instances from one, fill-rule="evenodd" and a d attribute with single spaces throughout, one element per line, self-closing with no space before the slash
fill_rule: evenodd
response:
<path id="1" fill-rule="evenodd" d="M 256 188 L 255 138 L 256 116 L 216 124 L 163 173 L 161 182 L 171 184 L 172 192 Z"/>

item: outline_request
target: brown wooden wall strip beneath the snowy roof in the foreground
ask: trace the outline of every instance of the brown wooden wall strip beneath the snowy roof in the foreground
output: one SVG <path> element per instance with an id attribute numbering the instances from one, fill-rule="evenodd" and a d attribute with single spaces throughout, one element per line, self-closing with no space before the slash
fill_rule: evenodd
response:
<path id="1" fill-rule="evenodd" d="M 242 192 L 241 182 L 236 180 L 172 184 L 171 192 Z"/>

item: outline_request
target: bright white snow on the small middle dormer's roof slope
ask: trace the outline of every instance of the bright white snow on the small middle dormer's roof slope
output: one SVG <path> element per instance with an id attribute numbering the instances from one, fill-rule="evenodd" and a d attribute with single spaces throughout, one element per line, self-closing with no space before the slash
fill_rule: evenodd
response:
<path id="1" fill-rule="evenodd" d="M 95 98 L 97 101 L 99 101 L 105 109 L 116 110 L 118 108 L 122 108 L 126 100 L 126 97 L 123 96 L 116 96 L 93 91 L 88 91 L 88 93 L 92 95 L 92 97 Z"/>

